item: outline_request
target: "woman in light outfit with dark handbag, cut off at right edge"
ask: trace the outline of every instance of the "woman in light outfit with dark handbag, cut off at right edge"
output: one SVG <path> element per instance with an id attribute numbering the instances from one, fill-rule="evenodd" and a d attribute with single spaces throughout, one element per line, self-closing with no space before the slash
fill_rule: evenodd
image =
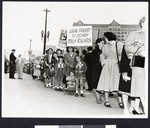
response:
<path id="1" fill-rule="evenodd" d="M 131 99 L 130 111 L 133 114 L 141 114 L 140 101 L 145 109 L 145 57 L 144 54 L 142 54 L 145 50 L 145 32 L 143 29 L 144 22 L 145 17 L 142 17 L 139 22 L 140 28 L 137 31 L 129 33 L 125 42 L 125 53 L 127 57 L 122 57 L 122 60 L 124 60 L 122 65 L 127 65 L 129 67 L 128 69 L 124 67 L 122 68 L 123 81 L 125 81 L 126 84 L 127 81 L 130 82 L 126 85 L 126 87 L 130 87 L 130 90 L 128 91 L 129 94 L 126 93 L 126 90 L 123 87 L 122 83 L 125 82 L 122 81 L 119 86 L 119 90 L 123 94 L 126 113 L 129 113 L 127 106 L 128 96 L 135 99 L 135 102 Z M 130 63 L 127 61 L 128 59 L 131 60 Z M 128 79 L 129 77 L 130 79 Z"/>

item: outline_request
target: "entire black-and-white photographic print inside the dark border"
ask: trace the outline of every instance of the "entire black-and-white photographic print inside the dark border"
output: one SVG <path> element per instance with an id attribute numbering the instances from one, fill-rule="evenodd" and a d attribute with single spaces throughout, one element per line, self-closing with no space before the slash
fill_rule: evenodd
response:
<path id="1" fill-rule="evenodd" d="M 148 11 L 148 2 L 2 2 L 2 118 L 147 119 Z"/>

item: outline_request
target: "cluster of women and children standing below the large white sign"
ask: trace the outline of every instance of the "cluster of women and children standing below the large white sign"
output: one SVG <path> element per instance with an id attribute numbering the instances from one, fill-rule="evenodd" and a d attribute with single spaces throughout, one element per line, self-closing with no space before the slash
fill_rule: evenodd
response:
<path id="1" fill-rule="evenodd" d="M 56 90 L 69 88 L 67 85 L 74 85 L 75 96 L 85 97 L 83 87 L 85 83 L 85 72 L 87 66 L 81 56 L 74 52 L 73 47 L 67 47 L 67 53 L 62 55 L 53 52 L 52 48 L 46 50 L 45 87 L 52 87 Z M 57 51 L 58 52 L 58 51 Z"/>

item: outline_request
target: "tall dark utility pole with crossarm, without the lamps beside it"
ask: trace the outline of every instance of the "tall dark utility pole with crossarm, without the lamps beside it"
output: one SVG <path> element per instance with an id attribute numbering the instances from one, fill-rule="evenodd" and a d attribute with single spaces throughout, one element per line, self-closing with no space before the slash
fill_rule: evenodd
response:
<path id="1" fill-rule="evenodd" d="M 50 10 L 46 9 L 46 10 L 43 10 L 43 11 L 46 11 L 46 15 L 45 15 L 45 32 L 44 32 L 44 48 L 43 48 L 43 54 L 45 54 L 46 38 L 47 38 L 47 13 L 50 12 Z"/>

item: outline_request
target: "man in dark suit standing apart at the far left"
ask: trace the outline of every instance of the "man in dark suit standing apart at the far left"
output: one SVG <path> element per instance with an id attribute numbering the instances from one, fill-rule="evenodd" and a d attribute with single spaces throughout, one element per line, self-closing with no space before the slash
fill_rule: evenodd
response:
<path id="1" fill-rule="evenodd" d="M 11 54 L 10 54 L 10 68 L 9 68 L 9 78 L 10 79 L 15 79 L 14 75 L 15 75 L 15 71 L 16 71 L 16 57 L 14 55 L 15 53 L 15 49 L 11 50 Z"/>

